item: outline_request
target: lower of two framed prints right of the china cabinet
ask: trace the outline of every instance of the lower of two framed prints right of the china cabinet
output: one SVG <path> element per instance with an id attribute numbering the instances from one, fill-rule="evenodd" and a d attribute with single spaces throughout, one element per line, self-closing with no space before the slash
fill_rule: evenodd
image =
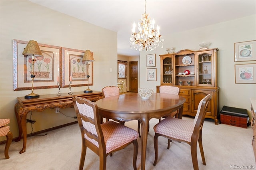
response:
<path id="1" fill-rule="evenodd" d="M 235 65 L 236 83 L 256 84 L 256 63 Z"/>

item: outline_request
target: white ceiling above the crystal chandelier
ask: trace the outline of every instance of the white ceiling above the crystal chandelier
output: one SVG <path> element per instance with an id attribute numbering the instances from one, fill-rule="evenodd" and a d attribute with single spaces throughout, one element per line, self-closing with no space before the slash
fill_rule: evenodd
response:
<path id="1" fill-rule="evenodd" d="M 139 56 L 130 49 L 132 24 L 145 12 L 144 0 L 30 0 L 52 10 L 117 32 L 118 54 Z M 256 0 L 147 0 L 146 13 L 160 34 L 191 30 L 256 14 Z"/>

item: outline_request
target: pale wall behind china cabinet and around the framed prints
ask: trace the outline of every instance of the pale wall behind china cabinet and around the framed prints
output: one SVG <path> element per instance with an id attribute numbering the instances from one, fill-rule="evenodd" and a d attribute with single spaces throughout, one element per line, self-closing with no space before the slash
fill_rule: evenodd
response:
<path id="1" fill-rule="evenodd" d="M 157 21 L 156 21 L 157 22 Z M 162 28 L 167 29 L 167 28 Z M 250 113 L 250 97 L 256 98 L 256 84 L 236 84 L 235 64 L 256 63 L 256 61 L 234 62 L 234 43 L 256 40 L 256 15 L 222 22 L 185 32 L 162 35 L 164 48 L 140 52 L 140 87 L 153 88 L 160 85 L 160 54 L 166 48 L 198 50 L 199 42 L 209 41 L 209 48 L 218 48 L 218 86 L 220 87 L 220 110 L 223 105 L 247 109 Z M 146 54 L 156 53 L 157 81 L 146 80 Z M 249 115 L 250 116 L 250 115 Z"/>

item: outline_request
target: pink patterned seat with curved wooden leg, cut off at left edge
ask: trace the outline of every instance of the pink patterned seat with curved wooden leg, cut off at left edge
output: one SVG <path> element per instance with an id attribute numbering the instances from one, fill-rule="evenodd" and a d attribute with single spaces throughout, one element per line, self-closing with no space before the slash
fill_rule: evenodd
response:
<path id="1" fill-rule="evenodd" d="M 0 136 L 6 136 L 6 145 L 4 148 L 4 156 L 9 159 L 8 150 L 12 143 L 12 132 L 10 132 L 10 127 L 6 126 L 10 123 L 10 119 L 0 119 Z"/>

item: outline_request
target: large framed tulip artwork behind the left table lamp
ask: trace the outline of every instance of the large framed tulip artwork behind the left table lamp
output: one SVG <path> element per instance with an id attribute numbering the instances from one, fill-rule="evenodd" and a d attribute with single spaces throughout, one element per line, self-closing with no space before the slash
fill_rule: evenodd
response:
<path id="1" fill-rule="evenodd" d="M 13 40 L 13 91 L 32 88 L 32 56 L 23 55 L 27 41 Z M 61 77 L 61 47 L 38 43 L 42 57 L 34 61 L 34 89 L 58 88 L 57 77 Z"/>

